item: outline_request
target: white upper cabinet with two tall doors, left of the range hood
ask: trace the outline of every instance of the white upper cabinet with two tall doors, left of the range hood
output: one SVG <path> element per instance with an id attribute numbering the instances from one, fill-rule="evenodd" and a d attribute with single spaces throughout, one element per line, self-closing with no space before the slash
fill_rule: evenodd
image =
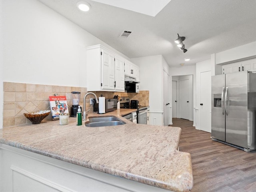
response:
<path id="1" fill-rule="evenodd" d="M 124 92 L 124 58 L 101 45 L 86 50 L 87 90 Z"/>

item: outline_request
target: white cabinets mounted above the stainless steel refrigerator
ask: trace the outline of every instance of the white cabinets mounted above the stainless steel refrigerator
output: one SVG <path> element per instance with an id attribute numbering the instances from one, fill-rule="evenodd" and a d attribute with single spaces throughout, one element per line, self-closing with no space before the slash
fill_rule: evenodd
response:
<path id="1" fill-rule="evenodd" d="M 234 73 L 240 71 L 256 71 L 256 59 L 244 60 L 232 64 L 222 65 L 222 73 Z"/>

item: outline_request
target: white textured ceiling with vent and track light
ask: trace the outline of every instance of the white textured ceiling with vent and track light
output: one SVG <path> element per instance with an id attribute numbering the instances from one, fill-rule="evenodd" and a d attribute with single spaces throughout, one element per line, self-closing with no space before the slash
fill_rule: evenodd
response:
<path id="1" fill-rule="evenodd" d="M 256 41 L 256 0 L 171 0 L 166 6 L 166 0 L 152 0 L 160 2 L 160 8 L 139 4 L 146 10 L 153 8 L 150 13 L 137 6 L 132 9 L 134 3 L 147 0 L 122 0 L 130 3 L 127 9 L 84 0 L 91 5 L 88 13 L 77 9 L 78 1 L 40 0 L 129 58 L 161 54 L 169 66 L 188 66 L 210 59 L 210 54 Z M 124 30 L 132 31 L 126 39 L 119 37 Z M 174 43 L 177 33 L 186 37 L 186 53 Z"/>

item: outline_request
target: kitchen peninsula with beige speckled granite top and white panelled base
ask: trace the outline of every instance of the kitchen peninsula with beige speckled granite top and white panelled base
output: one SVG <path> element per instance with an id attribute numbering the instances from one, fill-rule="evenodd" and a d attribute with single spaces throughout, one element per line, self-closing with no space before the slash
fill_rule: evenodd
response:
<path id="1" fill-rule="evenodd" d="M 2 191 L 189 192 L 191 157 L 178 151 L 181 129 L 134 124 L 122 118 L 124 110 L 107 114 L 126 123 L 118 126 L 76 126 L 70 118 L 64 126 L 43 121 L 0 130 Z"/>

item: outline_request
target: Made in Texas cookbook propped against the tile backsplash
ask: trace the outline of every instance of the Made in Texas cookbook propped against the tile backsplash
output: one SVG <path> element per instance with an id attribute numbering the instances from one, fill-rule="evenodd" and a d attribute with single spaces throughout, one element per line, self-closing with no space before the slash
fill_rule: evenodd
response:
<path id="1" fill-rule="evenodd" d="M 58 120 L 60 114 L 68 113 L 66 96 L 49 96 L 52 120 Z"/>

